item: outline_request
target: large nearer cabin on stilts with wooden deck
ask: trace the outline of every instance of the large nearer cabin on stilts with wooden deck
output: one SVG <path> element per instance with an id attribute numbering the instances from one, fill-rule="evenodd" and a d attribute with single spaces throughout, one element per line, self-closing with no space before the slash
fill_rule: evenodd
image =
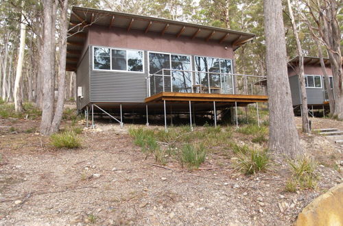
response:
<path id="1" fill-rule="evenodd" d="M 259 81 L 235 73 L 235 50 L 255 38 L 230 29 L 73 7 L 67 71 L 77 77 L 79 111 L 126 116 L 213 114 L 268 101 Z M 237 114 L 236 114 L 237 119 Z M 237 121 L 237 120 L 236 120 Z M 88 122 L 88 120 L 87 120 Z M 194 123 L 194 121 L 193 121 Z"/>

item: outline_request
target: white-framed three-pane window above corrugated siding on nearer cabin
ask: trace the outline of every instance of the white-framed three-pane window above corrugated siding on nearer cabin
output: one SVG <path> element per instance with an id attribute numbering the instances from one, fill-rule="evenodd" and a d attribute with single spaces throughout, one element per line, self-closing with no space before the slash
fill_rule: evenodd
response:
<path id="1" fill-rule="evenodd" d="M 94 47 L 94 69 L 143 72 L 143 51 Z"/>

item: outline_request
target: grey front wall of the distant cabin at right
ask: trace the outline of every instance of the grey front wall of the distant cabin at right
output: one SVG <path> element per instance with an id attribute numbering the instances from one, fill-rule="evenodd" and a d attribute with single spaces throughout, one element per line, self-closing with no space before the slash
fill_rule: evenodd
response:
<path id="1" fill-rule="evenodd" d="M 293 105 L 300 105 L 302 103 L 302 100 L 301 100 L 301 92 L 300 92 L 300 81 L 298 79 L 298 75 L 289 77 L 289 85 L 291 86 Z M 324 102 L 323 90 L 324 90 L 323 84 L 322 84 L 322 88 L 306 88 L 307 104 L 308 105 L 323 104 Z"/>

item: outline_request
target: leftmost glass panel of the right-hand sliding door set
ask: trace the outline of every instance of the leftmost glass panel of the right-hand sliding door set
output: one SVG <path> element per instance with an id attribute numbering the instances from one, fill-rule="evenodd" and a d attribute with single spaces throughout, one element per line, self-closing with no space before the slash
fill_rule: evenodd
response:
<path id="1" fill-rule="evenodd" d="M 206 73 L 208 71 L 207 58 L 205 57 L 195 57 L 196 63 L 196 92 L 209 92 L 209 75 Z"/>

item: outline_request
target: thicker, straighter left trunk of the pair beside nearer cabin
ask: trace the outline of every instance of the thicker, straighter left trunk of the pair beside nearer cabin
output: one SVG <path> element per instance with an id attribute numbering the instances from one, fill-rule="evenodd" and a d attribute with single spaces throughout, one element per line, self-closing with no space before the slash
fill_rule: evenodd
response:
<path id="1" fill-rule="evenodd" d="M 51 130 L 51 122 L 54 116 L 54 88 L 53 84 L 53 64 L 52 55 L 55 55 L 55 34 L 53 33 L 54 23 L 52 17 L 54 15 L 55 0 L 43 0 L 43 49 L 40 58 L 40 73 L 43 74 L 43 108 L 42 108 L 42 121 L 40 122 L 40 133 L 49 134 Z"/>

